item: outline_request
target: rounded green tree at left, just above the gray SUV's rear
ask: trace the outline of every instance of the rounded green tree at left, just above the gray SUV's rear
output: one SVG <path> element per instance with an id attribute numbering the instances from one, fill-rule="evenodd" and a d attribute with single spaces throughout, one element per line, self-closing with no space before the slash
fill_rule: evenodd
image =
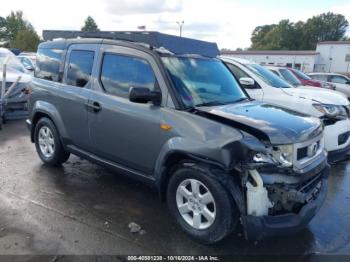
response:
<path id="1" fill-rule="evenodd" d="M 40 43 L 38 34 L 32 29 L 22 29 L 16 34 L 16 38 L 10 42 L 10 47 L 23 51 L 36 52 Z"/>

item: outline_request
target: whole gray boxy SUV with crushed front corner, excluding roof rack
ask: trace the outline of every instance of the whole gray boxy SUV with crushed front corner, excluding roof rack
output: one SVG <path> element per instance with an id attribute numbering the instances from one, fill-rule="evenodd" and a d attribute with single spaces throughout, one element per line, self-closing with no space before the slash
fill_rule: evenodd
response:
<path id="1" fill-rule="evenodd" d="M 70 153 L 153 186 L 211 244 L 294 232 L 325 200 L 318 119 L 254 101 L 195 51 L 106 40 L 40 44 L 27 125 L 49 166 Z"/>

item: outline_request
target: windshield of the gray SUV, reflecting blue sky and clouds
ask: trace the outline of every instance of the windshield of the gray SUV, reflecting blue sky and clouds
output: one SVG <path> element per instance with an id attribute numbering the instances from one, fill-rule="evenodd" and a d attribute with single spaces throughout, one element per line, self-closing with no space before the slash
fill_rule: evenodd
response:
<path id="1" fill-rule="evenodd" d="M 187 107 L 223 105 L 247 99 L 219 60 L 165 56 L 162 61 Z"/>

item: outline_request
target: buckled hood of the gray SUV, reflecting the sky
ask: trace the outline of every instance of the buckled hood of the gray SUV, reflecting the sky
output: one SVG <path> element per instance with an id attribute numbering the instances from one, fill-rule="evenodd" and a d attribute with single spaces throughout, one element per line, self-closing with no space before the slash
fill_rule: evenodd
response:
<path id="1" fill-rule="evenodd" d="M 273 145 L 303 142 L 322 130 L 317 118 L 258 101 L 200 107 L 198 111 L 207 118 L 243 130 Z"/>

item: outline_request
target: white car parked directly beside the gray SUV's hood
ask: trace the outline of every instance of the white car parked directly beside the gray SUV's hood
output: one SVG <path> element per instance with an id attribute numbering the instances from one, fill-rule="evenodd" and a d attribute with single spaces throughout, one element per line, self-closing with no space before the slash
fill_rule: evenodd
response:
<path id="1" fill-rule="evenodd" d="M 325 89 L 294 88 L 254 62 L 232 57 L 222 57 L 222 60 L 252 98 L 319 117 L 325 125 L 329 161 L 346 157 L 350 150 L 350 105 L 343 94 Z"/>

